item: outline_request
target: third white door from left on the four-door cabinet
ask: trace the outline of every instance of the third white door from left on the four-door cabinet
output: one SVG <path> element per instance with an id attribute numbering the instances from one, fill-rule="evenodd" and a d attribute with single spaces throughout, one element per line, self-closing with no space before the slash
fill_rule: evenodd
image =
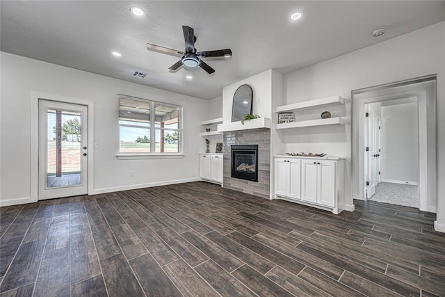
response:
<path id="1" fill-rule="evenodd" d="M 317 162 L 314 160 L 301 161 L 301 200 L 317 202 Z"/>

